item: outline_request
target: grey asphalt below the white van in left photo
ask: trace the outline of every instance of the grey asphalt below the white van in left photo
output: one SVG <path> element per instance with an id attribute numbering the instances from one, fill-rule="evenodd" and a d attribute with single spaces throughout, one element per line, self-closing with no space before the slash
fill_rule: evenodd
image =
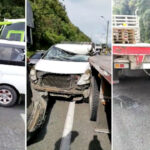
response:
<path id="1" fill-rule="evenodd" d="M 25 149 L 24 104 L 0 107 L 0 150 Z"/>

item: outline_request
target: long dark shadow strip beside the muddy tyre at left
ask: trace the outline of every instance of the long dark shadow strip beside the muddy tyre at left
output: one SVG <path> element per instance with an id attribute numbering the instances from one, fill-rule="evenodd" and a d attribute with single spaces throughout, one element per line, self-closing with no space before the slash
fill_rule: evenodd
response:
<path id="1" fill-rule="evenodd" d="M 51 98 L 51 97 L 49 99 L 50 100 L 48 102 L 48 106 L 47 106 L 47 110 L 46 110 L 45 121 L 44 121 L 43 125 L 35 132 L 32 139 L 28 142 L 28 146 L 42 141 L 44 139 L 46 133 L 47 133 L 47 126 L 48 126 L 48 123 L 50 120 L 51 112 L 52 112 L 52 109 L 53 109 L 54 104 L 56 102 L 56 100 Z"/>

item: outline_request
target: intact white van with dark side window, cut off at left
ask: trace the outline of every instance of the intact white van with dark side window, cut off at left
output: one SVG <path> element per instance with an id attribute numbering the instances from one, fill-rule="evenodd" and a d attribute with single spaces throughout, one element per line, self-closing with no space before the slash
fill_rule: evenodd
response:
<path id="1" fill-rule="evenodd" d="M 12 106 L 26 91 L 25 42 L 0 40 L 0 105 Z"/>

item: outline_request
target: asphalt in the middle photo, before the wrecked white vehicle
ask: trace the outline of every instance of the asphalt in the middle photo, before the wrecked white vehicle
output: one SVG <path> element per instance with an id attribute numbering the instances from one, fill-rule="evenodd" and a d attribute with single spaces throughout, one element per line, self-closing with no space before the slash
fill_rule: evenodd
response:
<path id="1" fill-rule="evenodd" d="M 60 150 L 64 132 L 71 127 L 71 115 L 68 115 L 70 102 L 56 100 L 49 104 L 47 119 L 44 126 L 30 141 L 28 150 Z M 72 112 L 72 108 L 70 109 Z M 68 122 L 66 118 L 68 116 Z M 110 150 L 110 141 L 107 134 L 96 133 L 95 122 L 89 121 L 89 104 L 76 103 L 74 108 L 73 124 L 70 130 L 71 150 Z M 66 141 L 65 141 L 66 142 Z M 66 144 L 67 145 L 67 144 Z M 62 148 L 63 149 L 63 148 Z M 61 149 L 61 150 L 62 150 Z"/>

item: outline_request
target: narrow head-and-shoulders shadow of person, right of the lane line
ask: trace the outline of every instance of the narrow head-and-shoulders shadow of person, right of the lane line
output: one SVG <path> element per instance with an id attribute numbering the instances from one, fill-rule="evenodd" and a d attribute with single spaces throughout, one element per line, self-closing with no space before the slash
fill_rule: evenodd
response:
<path id="1" fill-rule="evenodd" d="M 88 150 L 103 150 L 97 135 L 93 136 L 93 140 L 90 142 Z"/>

